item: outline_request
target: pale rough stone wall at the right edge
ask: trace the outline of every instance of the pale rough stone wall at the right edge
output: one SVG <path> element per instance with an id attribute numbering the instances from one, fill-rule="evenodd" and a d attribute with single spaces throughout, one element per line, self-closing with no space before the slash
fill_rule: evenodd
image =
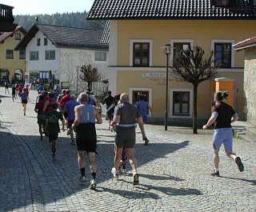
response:
<path id="1" fill-rule="evenodd" d="M 256 48 L 246 50 L 244 92 L 246 121 L 256 125 Z"/>

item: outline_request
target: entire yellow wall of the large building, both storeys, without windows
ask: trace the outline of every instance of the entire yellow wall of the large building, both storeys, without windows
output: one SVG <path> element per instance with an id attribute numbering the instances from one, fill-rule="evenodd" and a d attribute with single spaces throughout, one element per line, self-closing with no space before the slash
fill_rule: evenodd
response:
<path id="1" fill-rule="evenodd" d="M 166 66 L 166 55 L 162 46 L 171 39 L 193 39 L 194 46 L 202 46 L 210 53 L 211 40 L 234 40 L 240 42 L 256 34 L 255 21 L 181 21 L 181 20 L 129 20 L 118 21 L 118 66 L 130 66 L 130 39 L 152 39 L 153 66 Z M 243 68 L 244 53 L 234 52 L 234 67 Z M 123 68 L 125 69 L 125 68 Z M 165 78 L 142 78 L 143 73 L 159 70 L 118 70 L 118 93 L 129 92 L 131 87 L 151 88 L 154 115 L 163 117 L 166 99 Z M 232 69 L 231 69 L 232 70 Z M 162 71 L 163 72 L 163 71 Z M 242 114 L 243 73 L 220 72 L 218 77 L 234 79 L 234 108 Z M 170 88 L 193 88 L 189 82 L 178 82 L 170 78 Z M 169 89 L 170 92 L 170 89 Z M 209 118 L 211 108 L 210 80 L 198 86 L 198 118 Z M 169 95 L 170 96 L 170 95 Z M 169 105 L 168 99 L 168 105 Z M 168 110 L 169 112 L 169 110 Z M 241 118 L 241 116 L 240 116 Z"/>

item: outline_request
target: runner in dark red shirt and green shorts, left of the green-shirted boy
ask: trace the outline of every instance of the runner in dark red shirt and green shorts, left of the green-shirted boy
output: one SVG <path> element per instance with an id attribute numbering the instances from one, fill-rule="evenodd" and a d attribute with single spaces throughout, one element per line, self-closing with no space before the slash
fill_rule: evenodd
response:
<path id="1" fill-rule="evenodd" d="M 42 111 L 45 103 L 43 100 L 44 100 L 44 96 L 40 95 L 39 102 L 37 102 L 36 105 L 34 106 L 34 112 L 38 114 L 38 126 L 39 126 L 39 134 L 40 134 L 41 141 L 42 141 L 42 133 L 46 125 L 46 113 Z"/>

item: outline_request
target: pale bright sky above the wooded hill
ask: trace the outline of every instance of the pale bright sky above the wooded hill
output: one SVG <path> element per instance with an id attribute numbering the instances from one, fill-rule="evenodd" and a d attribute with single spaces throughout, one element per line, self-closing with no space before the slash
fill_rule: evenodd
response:
<path id="1" fill-rule="evenodd" d="M 14 6 L 13 14 L 55 14 L 90 11 L 94 0 L 0 0 L 0 4 Z"/>

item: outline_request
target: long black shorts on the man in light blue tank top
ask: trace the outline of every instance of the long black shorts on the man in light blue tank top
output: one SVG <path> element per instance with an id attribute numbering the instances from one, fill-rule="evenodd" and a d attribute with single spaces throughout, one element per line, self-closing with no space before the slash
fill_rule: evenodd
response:
<path id="1" fill-rule="evenodd" d="M 94 123 L 82 123 L 76 127 L 78 151 L 95 152 L 97 138 Z"/>

